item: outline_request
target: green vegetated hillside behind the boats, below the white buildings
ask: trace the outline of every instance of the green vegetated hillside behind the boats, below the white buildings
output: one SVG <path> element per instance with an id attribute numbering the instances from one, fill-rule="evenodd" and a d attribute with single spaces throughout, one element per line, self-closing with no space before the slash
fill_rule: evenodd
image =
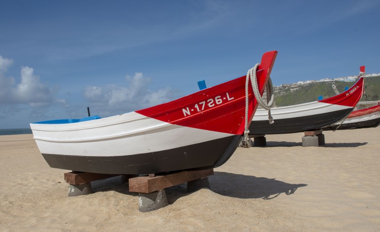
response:
<path id="1" fill-rule="evenodd" d="M 323 99 L 335 96 L 332 85 L 335 84 L 339 92 L 344 91 L 344 87 L 350 88 L 355 82 L 346 81 L 327 81 L 314 82 L 309 84 L 298 85 L 297 88 L 291 87 L 279 88 L 275 94 L 275 106 L 291 106 L 306 102 L 317 101 L 319 96 Z M 378 101 L 380 100 L 380 77 L 364 78 L 364 93 L 360 101 Z"/>

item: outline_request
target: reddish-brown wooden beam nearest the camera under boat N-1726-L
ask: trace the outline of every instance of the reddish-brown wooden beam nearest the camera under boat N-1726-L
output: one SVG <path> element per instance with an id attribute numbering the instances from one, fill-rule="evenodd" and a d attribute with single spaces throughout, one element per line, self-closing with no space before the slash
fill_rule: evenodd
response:
<path id="1" fill-rule="evenodd" d="M 129 192 L 152 193 L 185 182 L 205 178 L 214 174 L 214 169 L 183 171 L 164 176 L 141 176 L 129 179 Z"/>

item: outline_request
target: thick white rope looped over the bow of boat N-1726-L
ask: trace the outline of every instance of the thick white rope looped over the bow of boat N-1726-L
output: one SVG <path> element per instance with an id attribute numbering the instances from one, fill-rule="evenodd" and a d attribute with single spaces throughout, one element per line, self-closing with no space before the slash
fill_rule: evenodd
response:
<path id="1" fill-rule="evenodd" d="M 270 114 L 270 109 L 273 107 L 273 84 L 270 77 L 268 78 L 268 83 L 266 84 L 266 102 L 260 95 L 259 86 L 257 85 L 257 77 L 256 70 L 260 64 L 256 64 L 255 67 L 248 70 L 247 77 L 245 79 L 245 127 L 244 127 L 244 138 L 242 140 L 242 147 L 249 148 L 249 129 L 248 129 L 248 82 L 251 80 L 253 94 L 259 105 L 268 111 L 268 119 L 269 123 L 272 124 L 274 122 L 272 115 Z"/>

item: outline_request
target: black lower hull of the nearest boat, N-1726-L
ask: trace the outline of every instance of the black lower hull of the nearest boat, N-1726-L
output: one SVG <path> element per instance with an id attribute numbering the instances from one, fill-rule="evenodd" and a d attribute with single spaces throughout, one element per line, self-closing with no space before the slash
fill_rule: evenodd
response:
<path id="1" fill-rule="evenodd" d="M 236 150 L 240 135 L 160 152 L 124 156 L 42 154 L 53 168 L 104 174 L 152 174 L 217 167 Z"/>

